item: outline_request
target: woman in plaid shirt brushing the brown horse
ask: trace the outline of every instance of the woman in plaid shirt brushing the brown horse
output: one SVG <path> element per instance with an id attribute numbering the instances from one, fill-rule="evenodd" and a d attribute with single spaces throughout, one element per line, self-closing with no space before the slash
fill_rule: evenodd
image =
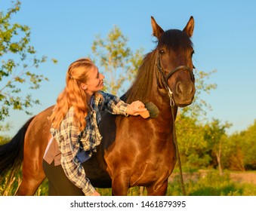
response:
<path id="1" fill-rule="evenodd" d="M 100 111 L 128 116 L 147 110 L 140 101 L 128 105 L 100 91 L 103 79 L 90 59 L 76 60 L 66 72 L 66 87 L 49 118 L 53 139 L 43 161 L 49 195 L 100 195 L 82 167 L 82 162 L 91 157 L 102 139 L 97 127 Z"/>

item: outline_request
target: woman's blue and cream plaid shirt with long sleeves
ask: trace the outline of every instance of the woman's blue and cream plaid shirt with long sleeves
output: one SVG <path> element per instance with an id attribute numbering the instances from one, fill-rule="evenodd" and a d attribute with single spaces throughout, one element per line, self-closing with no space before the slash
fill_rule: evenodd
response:
<path id="1" fill-rule="evenodd" d="M 60 148 L 60 163 L 66 176 L 74 185 L 81 188 L 85 195 L 94 193 L 94 187 L 85 175 L 85 169 L 79 161 L 78 153 L 82 147 L 84 151 L 96 151 L 102 136 L 98 129 L 100 111 L 106 110 L 113 115 L 126 115 L 127 105 L 121 99 L 108 93 L 99 92 L 100 96 L 93 96 L 90 111 L 86 116 L 86 127 L 79 133 L 79 127 L 73 124 L 74 109 L 71 107 L 66 117 L 60 123 L 60 128 L 51 127 L 51 135 L 57 140 Z"/>

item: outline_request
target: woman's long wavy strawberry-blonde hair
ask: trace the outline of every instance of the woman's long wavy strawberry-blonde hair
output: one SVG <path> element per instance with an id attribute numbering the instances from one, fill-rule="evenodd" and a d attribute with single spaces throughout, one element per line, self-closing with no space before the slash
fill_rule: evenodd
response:
<path id="1" fill-rule="evenodd" d="M 76 60 L 71 63 L 66 72 L 66 87 L 57 97 L 57 104 L 49 120 L 52 127 L 59 128 L 66 112 L 73 107 L 74 124 L 79 126 L 80 132 L 85 128 L 85 117 L 88 114 L 88 103 L 85 91 L 80 85 L 88 80 L 88 72 L 93 68 L 94 63 L 88 58 Z"/>

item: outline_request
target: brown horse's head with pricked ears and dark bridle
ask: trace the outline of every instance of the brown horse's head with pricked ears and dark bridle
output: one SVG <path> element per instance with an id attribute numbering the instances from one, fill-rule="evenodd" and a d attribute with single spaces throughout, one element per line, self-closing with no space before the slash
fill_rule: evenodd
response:
<path id="1" fill-rule="evenodd" d="M 184 107 L 190 105 L 196 92 L 193 75 L 194 53 L 193 35 L 194 19 L 190 17 L 183 31 L 170 29 L 164 31 L 151 17 L 153 35 L 158 38 L 156 47 L 157 68 L 162 87 L 168 86 L 172 92 L 175 105 Z"/>

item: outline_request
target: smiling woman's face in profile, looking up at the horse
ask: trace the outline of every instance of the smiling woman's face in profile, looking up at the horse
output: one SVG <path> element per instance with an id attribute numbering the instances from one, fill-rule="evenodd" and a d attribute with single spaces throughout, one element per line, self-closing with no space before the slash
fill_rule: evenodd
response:
<path id="1" fill-rule="evenodd" d="M 93 66 L 88 72 L 88 80 L 85 83 L 84 90 L 88 93 L 94 93 L 102 90 L 104 87 L 104 78 L 104 75 L 100 74 L 97 66 Z"/>

